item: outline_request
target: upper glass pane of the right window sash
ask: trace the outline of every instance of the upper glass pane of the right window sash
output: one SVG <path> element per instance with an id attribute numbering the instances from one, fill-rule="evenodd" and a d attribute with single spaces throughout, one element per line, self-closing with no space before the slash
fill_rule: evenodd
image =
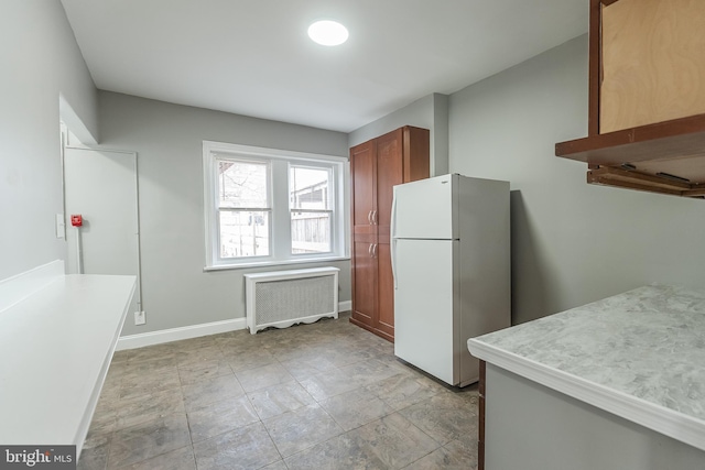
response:
<path id="1" fill-rule="evenodd" d="M 289 172 L 289 199 L 293 209 L 330 209 L 330 170 L 292 166 Z"/>

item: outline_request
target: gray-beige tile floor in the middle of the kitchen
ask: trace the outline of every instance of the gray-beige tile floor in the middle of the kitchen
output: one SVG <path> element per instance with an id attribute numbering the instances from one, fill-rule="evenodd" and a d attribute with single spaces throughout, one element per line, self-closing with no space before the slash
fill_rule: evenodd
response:
<path id="1" fill-rule="evenodd" d="M 79 469 L 476 469 L 477 386 L 337 320 L 115 354 Z"/>

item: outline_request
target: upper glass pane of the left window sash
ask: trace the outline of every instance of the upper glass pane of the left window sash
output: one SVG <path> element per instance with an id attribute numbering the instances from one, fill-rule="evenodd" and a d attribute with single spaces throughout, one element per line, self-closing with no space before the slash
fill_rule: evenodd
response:
<path id="1" fill-rule="evenodd" d="M 219 207 L 269 208 L 267 163 L 218 161 Z"/>

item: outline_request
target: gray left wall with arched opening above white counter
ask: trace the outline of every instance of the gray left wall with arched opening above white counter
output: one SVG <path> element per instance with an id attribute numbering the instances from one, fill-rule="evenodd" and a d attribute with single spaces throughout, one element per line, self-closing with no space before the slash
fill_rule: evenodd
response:
<path id="1" fill-rule="evenodd" d="M 97 95 L 58 0 L 0 2 L 0 280 L 57 259 L 59 95 L 68 120 L 98 131 Z M 89 135 L 88 131 L 93 135 Z"/>

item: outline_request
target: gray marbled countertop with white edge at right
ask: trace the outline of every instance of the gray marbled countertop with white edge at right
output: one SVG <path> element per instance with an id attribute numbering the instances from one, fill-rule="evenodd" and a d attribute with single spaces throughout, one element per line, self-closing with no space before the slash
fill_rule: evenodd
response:
<path id="1" fill-rule="evenodd" d="M 705 450 L 705 292 L 644 286 L 471 338 L 468 349 Z"/>

